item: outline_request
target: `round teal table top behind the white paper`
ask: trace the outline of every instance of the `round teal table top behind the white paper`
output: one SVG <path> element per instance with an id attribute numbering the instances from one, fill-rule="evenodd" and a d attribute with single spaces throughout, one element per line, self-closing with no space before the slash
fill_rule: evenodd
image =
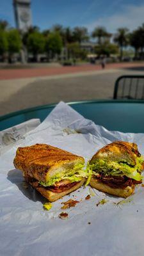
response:
<path id="1" fill-rule="evenodd" d="M 144 133 L 144 101 L 142 100 L 91 100 L 68 103 L 77 112 L 111 131 Z M 0 131 L 31 118 L 41 122 L 56 105 L 24 109 L 0 116 Z"/>

